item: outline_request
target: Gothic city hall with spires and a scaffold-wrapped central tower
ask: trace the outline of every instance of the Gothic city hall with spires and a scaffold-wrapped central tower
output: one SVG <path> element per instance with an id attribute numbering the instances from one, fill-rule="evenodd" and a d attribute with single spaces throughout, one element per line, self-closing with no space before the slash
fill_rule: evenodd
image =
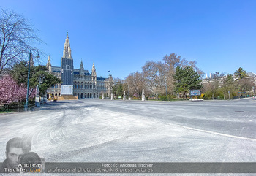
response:
<path id="1" fill-rule="evenodd" d="M 48 72 L 61 79 L 61 84 L 54 85 L 48 89 L 47 98 L 55 99 L 98 99 L 102 94 L 109 97 L 113 88 L 113 77 L 97 77 L 96 69 L 92 64 L 91 73 L 83 68 L 83 61 L 80 69 L 74 69 L 69 36 L 67 34 L 61 67 L 51 66 L 50 56 L 46 66 Z"/>

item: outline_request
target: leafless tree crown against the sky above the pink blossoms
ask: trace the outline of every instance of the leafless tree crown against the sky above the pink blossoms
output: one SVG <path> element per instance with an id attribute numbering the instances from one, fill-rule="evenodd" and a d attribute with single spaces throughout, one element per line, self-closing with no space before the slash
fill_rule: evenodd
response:
<path id="1" fill-rule="evenodd" d="M 12 10 L 1 10 L 0 15 L 0 74 L 17 61 L 28 60 L 31 44 L 42 42 L 22 15 Z"/>

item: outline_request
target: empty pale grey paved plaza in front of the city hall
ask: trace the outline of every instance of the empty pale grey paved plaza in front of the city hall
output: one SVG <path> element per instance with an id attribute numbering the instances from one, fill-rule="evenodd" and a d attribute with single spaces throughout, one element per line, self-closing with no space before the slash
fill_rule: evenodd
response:
<path id="1" fill-rule="evenodd" d="M 256 101 L 82 99 L 0 115 L 0 160 L 31 135 L 47 162 L 255 162 Z"/>

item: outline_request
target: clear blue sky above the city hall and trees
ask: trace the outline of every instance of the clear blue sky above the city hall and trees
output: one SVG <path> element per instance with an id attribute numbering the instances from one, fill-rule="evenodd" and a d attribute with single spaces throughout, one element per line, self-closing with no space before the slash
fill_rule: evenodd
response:
<path id="1" fill-rule="evenodd" d="M 46 43 L 53 66 L 60 66 L 69 40 L 75 68 L 83 60 L 97 76 L 124 78 L 146 61 L 165 54 L 197 61 L 209 72 L 256 72 L 255 0 L 0 0 L 31 20 Z M 47 58 L 42 58 L 46 64 Z"/>

